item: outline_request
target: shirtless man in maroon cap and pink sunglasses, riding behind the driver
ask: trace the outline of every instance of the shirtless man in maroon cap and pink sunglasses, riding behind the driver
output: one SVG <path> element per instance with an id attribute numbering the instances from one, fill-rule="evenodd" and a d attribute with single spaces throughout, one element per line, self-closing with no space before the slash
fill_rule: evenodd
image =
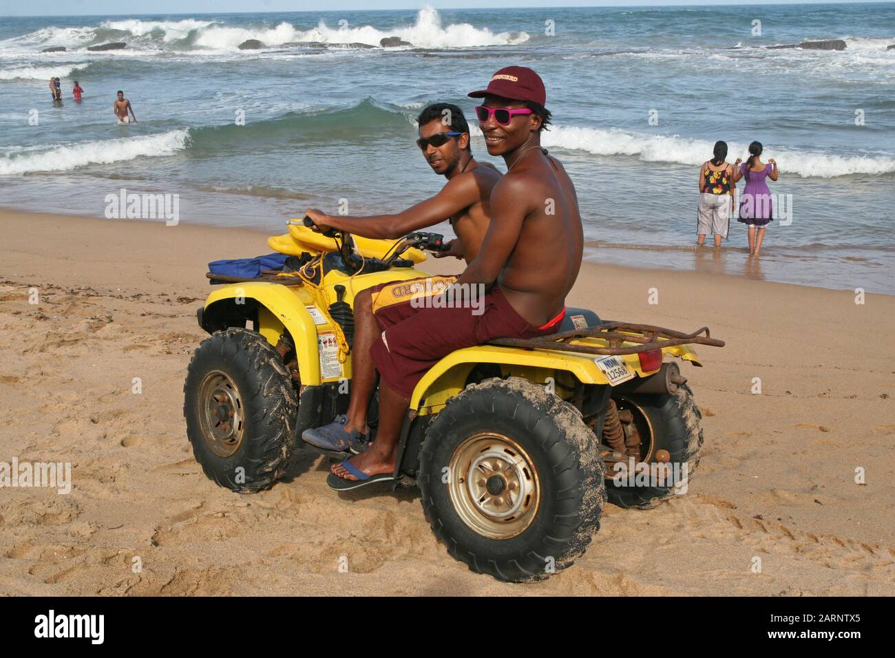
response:
<path id="1" fill-rule="evenodd" d="M 401 425 L 413 389 L 432 365 L 456 349 L 492 338 L 533 338 L 555 333 L 575 283 L 584 245 L 575 187 L 556 158 L 541 149 L 550 122 L 537 73 L 508 66 L 495 73 L 476 108 L 491 155 L 507 174 L 491 192 L 491 219 L 482 248 L 454 286 L 490 287 L 486 311 L 414 309 L 405 317 L 377 315 L 382 335 L 372 347 L 379 371 L 379 433 L 361 454 L 333 466 L 337 491 L 394 479 Z"/>

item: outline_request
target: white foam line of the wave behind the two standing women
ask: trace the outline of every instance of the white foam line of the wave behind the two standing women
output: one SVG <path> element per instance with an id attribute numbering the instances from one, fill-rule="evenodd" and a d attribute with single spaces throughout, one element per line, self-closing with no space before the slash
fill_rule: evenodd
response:
<path id="1" fill-rule="evenodd" d="M 630 156 L 644 162 L 670 162 L 698 167 L 712 153 L 714 141 L 651 135 L 620 130 L 550 126 L 541 143 L 547 148 L 582 150 L 601 156 Z M 747 144 L 728 142 L 729 160 L 746 157 Z M 833 178 L 842 175 L 882 175 L 895 172 L 895 158 L 847 156 L 793 149 L 773 149 L 765 145 L 763 159 L 775 158 L 780 172 L 803 178 Z"/>

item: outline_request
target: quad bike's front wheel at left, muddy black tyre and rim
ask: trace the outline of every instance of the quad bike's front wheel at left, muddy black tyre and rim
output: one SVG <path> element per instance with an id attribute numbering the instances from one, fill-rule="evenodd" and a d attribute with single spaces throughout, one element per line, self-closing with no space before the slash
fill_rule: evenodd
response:
<path id="1" fill-rule="evenodd" d="M 192 453 L 222 487 L 254 493 L 286 472 L 298 397 L 277 350 L 248 329 L 202 341 L 183 384 Z"/>

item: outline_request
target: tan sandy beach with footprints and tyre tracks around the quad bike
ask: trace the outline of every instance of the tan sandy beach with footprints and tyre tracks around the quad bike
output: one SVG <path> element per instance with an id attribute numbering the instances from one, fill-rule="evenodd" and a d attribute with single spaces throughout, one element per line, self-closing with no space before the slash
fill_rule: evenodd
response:
<path id="1" fill-rule="evenodd" d="M 251 496 L 201 473 L 183 378 L 207 263 L 267 234 L 2 210 L 0 235 L 0 462 L 72 463 L 67 495 L 0 489 L 0 594 L 895 594 L 895 297 L 585 265 L 570 305 L 727 341 L 682 365 L 703 459 L 686 495 L 607 506 L 574 567 L 507 585 L 447 554 L 415 489 L 338 495 L 304 451 Z"/>

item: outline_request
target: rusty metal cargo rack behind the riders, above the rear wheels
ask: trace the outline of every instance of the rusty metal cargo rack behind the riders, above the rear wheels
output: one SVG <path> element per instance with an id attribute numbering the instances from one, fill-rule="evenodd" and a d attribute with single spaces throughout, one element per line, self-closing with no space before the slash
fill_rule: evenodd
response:
<path id="1" fill-rule="evenodd" d="M 609 346 L 601 347 L 586 343 L 572 343 L 573 340 L 597 338 L 605 340 Z M 635 343 L 635 345 L 625 345 Z M 524 347 L 525 349 L 551 349 L 560 352 L 580 352 L 588 355 L 635 355 L 662 347 L 676 345 L 710 345 L 723 347 L 724 341 L 712 338 L 709 328 L 696 329 L 685 334 L 674 329 L 654 327 L 651 324 L 631 324 L 630 322 L 607 321 L 587 329 L 560 331 L 539 338 L 496 338 L 489 345 Z"/>

